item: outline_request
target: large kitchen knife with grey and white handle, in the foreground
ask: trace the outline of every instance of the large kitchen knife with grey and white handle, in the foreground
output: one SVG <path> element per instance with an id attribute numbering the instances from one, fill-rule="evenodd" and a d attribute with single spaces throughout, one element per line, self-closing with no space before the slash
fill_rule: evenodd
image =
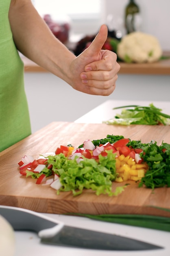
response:
<path id="1" fill-rule="evenodd" d="M 0 205 L 0 215 L 15 231 L 34 231 L 41 239 L 41 243 L 45 244 L 113 251 L 163 249 L 157 245 L 115 234 L 66 226 L 63 222 L 27 209 Z"/>

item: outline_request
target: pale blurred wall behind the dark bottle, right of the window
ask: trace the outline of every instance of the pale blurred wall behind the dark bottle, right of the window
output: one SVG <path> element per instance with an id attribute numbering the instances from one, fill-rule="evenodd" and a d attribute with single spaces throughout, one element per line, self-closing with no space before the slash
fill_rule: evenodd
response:
<path id="1" fill-rule="evenodd" d="M 129 0 L 102 0 L 105 5 L 104 20 L 111 13 L 115 18 L 124 17 Z M 142 16 L 142 31 L 156 36 L 163 50 L 170 51 L 170 0 L 135 0 Z"/>

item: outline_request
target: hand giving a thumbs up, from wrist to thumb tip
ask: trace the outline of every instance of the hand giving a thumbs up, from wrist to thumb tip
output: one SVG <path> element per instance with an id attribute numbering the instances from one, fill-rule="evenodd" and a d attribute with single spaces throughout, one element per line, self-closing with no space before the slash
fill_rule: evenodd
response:
<path id="1" fill-rule="evenodd" d="M 74 89 L 103 96 L 110 95 L 115 89 L 120 65 L 114 52 L 102 50 L 106 40 L 107 26 L 102 25 L 91 45 L 72 61 L 70 70 L 74 76 Z"/>

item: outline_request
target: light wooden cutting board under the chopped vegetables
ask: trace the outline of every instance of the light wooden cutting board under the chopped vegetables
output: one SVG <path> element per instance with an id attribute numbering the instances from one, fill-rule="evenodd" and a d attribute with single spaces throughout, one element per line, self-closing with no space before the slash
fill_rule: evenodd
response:
<path id="1" fill-rule="evenodd" d="M 133 213 L 169 216 L 170 213 L 152 206 L 170 209 L 170 188 L 138 188 L 131 182 L 117 197 L 95 195 L 85 190 L 76 197 L 71 192 L 56 191 L 46 185 L 35 184 L 31 177 L 21 176 L 17 163 L 24 155 L 37 158 L 54 152 L 61 144 L 78 147 L 86 139 L 103 139 L 108 134 L 123 135 L 148 143 L 150 140 L 170 143 L 170 126 L 112 126 L 107 124 L 76 124 L 54 122 L 0 153 L 0 204 L 21 207 L 44 213 Z M 113 191 L 123 183 L 113 182 Z"/>

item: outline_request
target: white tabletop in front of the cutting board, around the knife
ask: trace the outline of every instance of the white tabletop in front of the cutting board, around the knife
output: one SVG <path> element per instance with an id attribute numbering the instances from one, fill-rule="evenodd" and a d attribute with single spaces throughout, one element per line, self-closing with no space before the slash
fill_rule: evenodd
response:
<path id="1" fill-rule="evenodd" d="M 112 234 L 122 235 L 129 238 L 143 240 L 148 243 L 163 246 L 165 249 L 151 251 L 97 251 L 91 249 L 73 249 L 67 247 L 43 245 L 38 236 L 32 232 L 17 231 L 15 256 L 169 256 L 170 255 L 170 232 L 144 229 L 126 225 L 99 222 L 83 217 L 63 216 L 46 214 L 52 218 L 63 221 L 66 225 L 85 229 L 93 229 Z"/>

